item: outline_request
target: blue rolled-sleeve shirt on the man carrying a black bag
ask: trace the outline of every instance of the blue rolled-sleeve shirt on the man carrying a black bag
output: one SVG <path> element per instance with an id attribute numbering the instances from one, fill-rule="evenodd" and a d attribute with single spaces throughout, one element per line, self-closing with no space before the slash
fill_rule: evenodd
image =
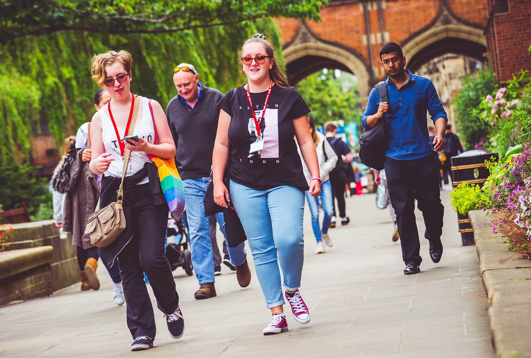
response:
<path id="1" fill-rule="evenodd" d="M 432 81 L 405 71 L 409 74 L 409 80 L 400 89 L 389 77 L 386 81 L 389 96 L 385 118 L 389 129 L 386 156 L 398 160 L 418 159 L 433 152 L 426 110 L 434 123 L 438 118 L 448 118 Z M 379 104 L 378 92 L 373 88 L 362 117 L 366 130 L 369 130 L 367 117 L 378 112 Z"/>

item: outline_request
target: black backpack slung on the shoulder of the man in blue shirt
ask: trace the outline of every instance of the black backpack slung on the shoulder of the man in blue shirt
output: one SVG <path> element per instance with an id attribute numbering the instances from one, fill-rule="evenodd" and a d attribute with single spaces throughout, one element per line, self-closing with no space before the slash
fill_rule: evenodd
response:
<path id="1" fill-rule="evenodd" d="M 378 92 L 380 103 L 389 101 L 386 82 L 379 82 L 374 88 Z M 387 129 L 385 117 L 383 117 L 382 121 L 378 121 L 374 127 L 363 132 L 361 137 L 359 137 L 359 159 L 362 160 L 362 163 L 381 171 L 386 157 L 388 139 L 389 130 Z"/>

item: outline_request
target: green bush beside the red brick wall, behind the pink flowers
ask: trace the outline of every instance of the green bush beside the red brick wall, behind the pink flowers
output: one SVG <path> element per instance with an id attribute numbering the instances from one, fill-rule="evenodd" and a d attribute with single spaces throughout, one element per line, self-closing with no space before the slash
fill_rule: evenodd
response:
<path id="1" fill-rule="evenodd" d="M 484 141 L 490 131 L 490 125 L 473 112 L 486 95 L 496 88 L 495 74 L 489 65 L 474 74 L 463 78 L 462 86 L 453 100 L 454 114 L 459 127 L 459 137 L 466 149 L 473 149 L 477 143 Z"/>

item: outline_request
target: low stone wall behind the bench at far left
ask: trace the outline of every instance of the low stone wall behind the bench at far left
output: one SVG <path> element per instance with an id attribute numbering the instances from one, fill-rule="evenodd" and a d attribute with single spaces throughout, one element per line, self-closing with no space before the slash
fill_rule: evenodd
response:
<path id="1" fill-rule="evenodd" d="M 0 248 L 4 251 L 53 246 L 53 261 L 50 265 L 52 291 L 80 281 L 78 259 L 76 249 L 72 246 L 72 238 L 70 234 L 66 239 L 59 238 L 59 229 L 55 227 L 54 220 L 7 225 L 7 228 L 9 227 L 14 230 L 8 233 L 5 242 L 0 244 Z"/>

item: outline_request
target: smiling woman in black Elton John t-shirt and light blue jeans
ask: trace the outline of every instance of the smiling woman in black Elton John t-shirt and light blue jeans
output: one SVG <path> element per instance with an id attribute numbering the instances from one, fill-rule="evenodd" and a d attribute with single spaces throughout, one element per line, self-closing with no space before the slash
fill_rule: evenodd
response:
<path id="1" fill-rule="evenodd" d="M 321 179 L 306 116 L 310 109 L 289 87 L 273 47 L 257 33 L 243 44 L 241 58 L 247 84 L 229 90 L 218 103 L 221 112 L 212 158 L 214 201 L 223 207 L 233 205 L 242 221 L 256 276 L 272 313 L 262 333 L 270 335 L 288 329 L 282 284 L 294 319 L 310 321 L 310 311 L 298 291 L 304 261 L 304 192 L 319 195 Z M 294 137 L 311 174 L 310 185 Z M 228 163 L 229 188 L 223 178 Z"/>

